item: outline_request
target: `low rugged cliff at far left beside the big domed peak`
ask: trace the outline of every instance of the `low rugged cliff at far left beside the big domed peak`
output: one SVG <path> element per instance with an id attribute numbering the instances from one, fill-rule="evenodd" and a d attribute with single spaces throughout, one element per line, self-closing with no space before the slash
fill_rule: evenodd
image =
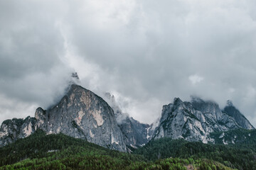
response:
<path id="1" fill-rule="evenodd" d="M 20 138 L 28 137 L 36 130 L 36 118 L 5 120 L 0 128 L 0 147 Z"/>

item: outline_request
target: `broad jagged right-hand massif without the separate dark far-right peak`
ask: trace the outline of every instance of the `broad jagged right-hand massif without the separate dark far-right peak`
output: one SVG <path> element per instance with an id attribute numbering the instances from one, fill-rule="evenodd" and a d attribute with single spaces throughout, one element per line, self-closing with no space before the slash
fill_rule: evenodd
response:
<path id="1" fill-rule="evenodd" d="M 154 130 L 153 139 L 171 137 L 188 141 L 213 142 L 211 132 L 242 128 L 230 115 L 223 113 L 213 101 L 192 98 L 183 102 L 174 98 L 174 103 L 164 106 L 159 126 Z"/>

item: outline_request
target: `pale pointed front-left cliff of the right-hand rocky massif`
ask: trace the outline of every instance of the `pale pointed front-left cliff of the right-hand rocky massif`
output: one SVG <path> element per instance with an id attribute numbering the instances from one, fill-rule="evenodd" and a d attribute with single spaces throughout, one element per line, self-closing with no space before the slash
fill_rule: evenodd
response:
<path id="1" fill-rule="evenodd" d="M 207 133 L 213 130 L 204 129 L 201 121 L 206 123 L 203 114 L 196 111 L 191 103 L 175 98 L 173 104 L 163 107 L 159 127 L 156 128 L 153 138 L 171 137 L 206 142 Z"/>

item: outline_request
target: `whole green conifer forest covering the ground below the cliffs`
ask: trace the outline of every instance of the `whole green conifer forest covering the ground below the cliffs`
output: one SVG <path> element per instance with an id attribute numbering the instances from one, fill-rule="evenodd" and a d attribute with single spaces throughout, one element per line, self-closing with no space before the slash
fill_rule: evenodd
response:
<path id="1" fill-rule="evenodd" d="M 255 148 L 162 138 L 129 154 L 37 130 L 0 148 L 0 169 L 256 169 Z"/>

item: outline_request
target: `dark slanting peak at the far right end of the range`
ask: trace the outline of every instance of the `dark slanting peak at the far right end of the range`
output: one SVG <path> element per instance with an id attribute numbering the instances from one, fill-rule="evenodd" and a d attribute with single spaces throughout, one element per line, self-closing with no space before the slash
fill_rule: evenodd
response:
<path id="1" fill-rule="evenodd" d="M 242 115 L 242 113 L 240 113 L 240 111 L 238 111 L 237 108 L 235 108 L 235 106 L 233 106 L 232 101 L 228 101 L 227 102 L 227 106 L 225 106 L 223 112 L 227 113 L 228 115 L 230 115 L 232 118 L 235 119 L 235 121 L 237 121 L 237 123 L 245 129 L 255 129 L 252 124 L 250 124 L 249 120 L 247 120 L 247 118 L 245 118 L 244 115 Z"/>

